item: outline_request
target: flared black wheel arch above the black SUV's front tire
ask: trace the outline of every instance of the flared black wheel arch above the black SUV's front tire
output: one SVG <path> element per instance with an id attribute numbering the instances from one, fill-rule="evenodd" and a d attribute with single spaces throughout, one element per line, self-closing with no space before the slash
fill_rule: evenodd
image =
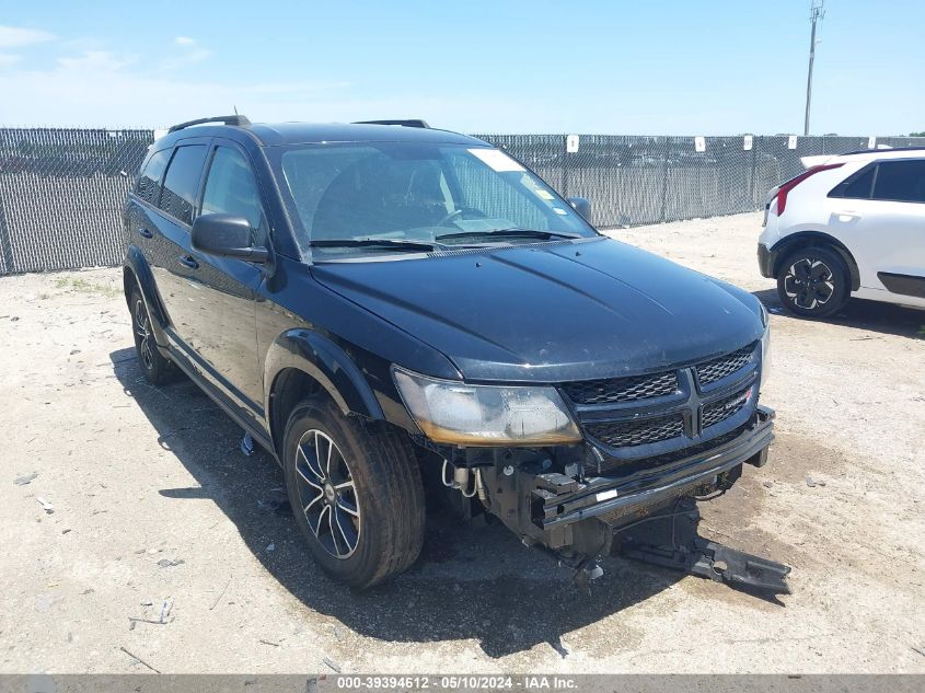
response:
<path id="1" fill-rule="evenodd" d="M 314 378 L 344 414 L 385 418 L 372 388 L 346 351 L 324 335 L 304 327 L 287 330 L 267 349 L 264 411 L 268 416 L 276 378 L 287 368 L 296 368 Z"/>

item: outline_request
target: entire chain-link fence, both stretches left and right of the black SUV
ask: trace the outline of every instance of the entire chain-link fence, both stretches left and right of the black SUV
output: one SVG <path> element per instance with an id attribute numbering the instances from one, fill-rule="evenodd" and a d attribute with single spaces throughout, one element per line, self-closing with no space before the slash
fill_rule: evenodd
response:
<path id="1" fill-rule="evenodd" d="M 600 228 L 760 209 L 800 158 L 925 138 L 479 135 L 565 196 L 591 201 Z M 0 275 L 122 262 L 120 212 L 152 130 L 0 128 Z"/>

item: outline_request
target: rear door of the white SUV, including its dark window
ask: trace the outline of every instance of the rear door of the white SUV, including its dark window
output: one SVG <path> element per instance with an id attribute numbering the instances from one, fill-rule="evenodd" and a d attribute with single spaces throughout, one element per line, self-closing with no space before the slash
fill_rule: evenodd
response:
<path id="1" fill-rule="evenodd" d="M 830 197 L 832 229 L 854 254 L 862 287 L 925 298 L 925 159 L 872 163 Z"/>

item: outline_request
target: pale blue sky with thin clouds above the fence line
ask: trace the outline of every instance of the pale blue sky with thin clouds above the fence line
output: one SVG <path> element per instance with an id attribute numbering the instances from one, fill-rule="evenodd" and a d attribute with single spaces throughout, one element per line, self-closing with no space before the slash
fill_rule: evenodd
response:
<path id="1" fill-rule="evenodd" d="M 0 0 L 0 125 L 424 117 L 470 132 L 801 132 L 809 0 Z M 925 130 L 921 1 L 828 0 L 814 134 Z"/>

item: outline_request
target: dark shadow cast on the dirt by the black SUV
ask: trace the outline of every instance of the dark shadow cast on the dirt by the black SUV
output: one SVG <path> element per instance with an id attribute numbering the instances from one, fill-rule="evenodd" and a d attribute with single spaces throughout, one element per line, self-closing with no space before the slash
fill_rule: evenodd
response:
<path id="1" fill-rule="evenodd" d="M 646 600 L 683 577 L 608 558 L 604 576 L 589 593 L 571 581 L 570 570 L 527 548 L 504 527 L 461 524 L 429 512 L 424 551 L 407 573 L 367 591 L 349 590 L 311 559 L 275 460 L 259 448 L 246 457 L 240 449 L 241 428 L 192 381 L 148 384 L 134 354 L 131 348 L 112 353 L 114 373 L 151 421 L 151 435 L 198 483 L 159 493 L 177 500 L 213 500 L 284 588 L 309 609 L 361 635 L 411 643 L 472 638 L 493 658 L 548 643 L 565 657 L 563 634 Z"/>

